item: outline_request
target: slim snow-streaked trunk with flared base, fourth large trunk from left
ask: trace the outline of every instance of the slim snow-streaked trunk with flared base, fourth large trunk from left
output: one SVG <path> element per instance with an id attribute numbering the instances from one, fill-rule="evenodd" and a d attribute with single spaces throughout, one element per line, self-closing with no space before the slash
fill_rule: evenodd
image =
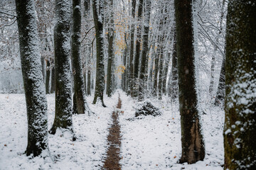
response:
<path id="1" fill-rule="evenodd" d="M 97 50 L 97 63 L 96 63 L 96 83 L 95 83 L 95 96 L 93 103 L 97 102 L 99 98 L 102 101 L 102 106 L 105 107 L 103 101 L 103 93 L 105 88 L 105 71 L 104 71 L 104 48 L 103 48 L 103 13 L 102 13 L 102 1 L 97 4 L 97 0 L 92 0 L 92 13 L 95 23 L 96 32 L 96 50 Z"/>

